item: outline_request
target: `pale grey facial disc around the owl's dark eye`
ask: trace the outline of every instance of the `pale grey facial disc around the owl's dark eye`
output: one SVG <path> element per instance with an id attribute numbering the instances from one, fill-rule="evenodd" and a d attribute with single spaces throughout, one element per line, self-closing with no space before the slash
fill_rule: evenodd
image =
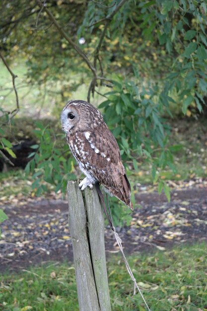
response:
<path id="1" fill-rule="evenodd" d="M 68 133 L 68 131 L 77 124 L 78 120 L 78 114 L 74 108 L 68 107 L 63 109 L 61 113 L 61 123 L 64 132 Z"/>

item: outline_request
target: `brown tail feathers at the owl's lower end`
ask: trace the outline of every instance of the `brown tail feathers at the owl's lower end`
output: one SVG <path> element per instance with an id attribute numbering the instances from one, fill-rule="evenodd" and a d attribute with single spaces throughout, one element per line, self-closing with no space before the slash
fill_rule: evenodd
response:
<path id="1" fill-rule="evenodd" d="M 123 175 L 123 184 L 122 188 L 119 191 L 116 191 L 116 189 L 109 189 L 109 191 L 115 195 L 119 200 L 124 202 L 128 207 L 131 208 L 132 211 L 134 211 L 134 207 L 132 204 L 132 199 L 131 199 L 131 186 L 129 183 L 129 180 L 127 179 L 127 175 Z"/>

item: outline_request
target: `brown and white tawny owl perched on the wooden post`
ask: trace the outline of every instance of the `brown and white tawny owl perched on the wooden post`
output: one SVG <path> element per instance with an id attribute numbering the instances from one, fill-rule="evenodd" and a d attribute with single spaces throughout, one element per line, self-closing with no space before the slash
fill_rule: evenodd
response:
<path id="1" fill-rule="evenodd" d="M 98 109 L 83 100 L 70 100 L 61 113 L 61 123 L 70 151 L 86 176 L 79 188 L 92 188 L 99 182 L 133 210 L 119 146 Z"/>

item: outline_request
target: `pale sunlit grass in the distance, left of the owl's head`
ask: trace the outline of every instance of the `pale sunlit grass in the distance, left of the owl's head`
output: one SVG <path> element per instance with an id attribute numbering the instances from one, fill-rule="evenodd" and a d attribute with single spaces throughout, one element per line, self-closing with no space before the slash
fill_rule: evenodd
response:
<path id="1" fill-rule="evenodd" d="M 42 84 L 31 84 L 28 82 L 25 61 L 17 59 L 16 62 L 9 65 L 13 73 L 17 75 L 15 85 L 20 105 L 17 118 L 26 116 L 34 119 L 57 118 L 57 114 L 60 114 L 69 99 L 85 100 L 87 98 L 90 81 L 86 74 L 69 73 L 65 81 L 49 80 Z M 0 62 L 0 73 L 0 107 L 6 111 L 12 111 L 16 108 L 16 97 L 11 76 L 2 62 Z M 106 89 L 104 88 L 104 90 Z M 102 97 L 95 93 L 93 103 L 97 105 L 100 99 Z"/>

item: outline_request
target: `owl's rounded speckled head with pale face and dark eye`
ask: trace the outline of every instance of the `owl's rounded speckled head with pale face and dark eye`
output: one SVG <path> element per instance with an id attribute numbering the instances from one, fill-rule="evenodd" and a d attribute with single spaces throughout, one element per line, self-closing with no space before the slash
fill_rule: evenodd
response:
<path id="1" fill-rule="evenodd" d="M 86 130 L 103 122 L 103 117 L 93 105 L 83 100 L 69 100 L 61 113 L 61 123 L 64 132 L 68 133 L 74 127 Z"/>

